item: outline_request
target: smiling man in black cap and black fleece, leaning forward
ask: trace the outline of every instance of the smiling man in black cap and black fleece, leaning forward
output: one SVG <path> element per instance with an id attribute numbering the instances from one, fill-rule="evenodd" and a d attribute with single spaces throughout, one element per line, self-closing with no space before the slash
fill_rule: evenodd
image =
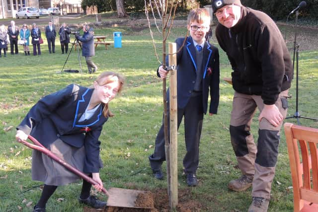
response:
<path id="1" fill-rule="evenodd" d="M 230 135 L 242 175 L 228 187 L 240 192 L 252 186 L 248 212 L 267 212 L 293 76 L 290 54 L 265 13 L 240 0 L 212 0 L 212 8 L 219 21 L 216 37 L 230 60 L 235 90 Z M 250 133 L 256 109 L 257 145 Z"/>

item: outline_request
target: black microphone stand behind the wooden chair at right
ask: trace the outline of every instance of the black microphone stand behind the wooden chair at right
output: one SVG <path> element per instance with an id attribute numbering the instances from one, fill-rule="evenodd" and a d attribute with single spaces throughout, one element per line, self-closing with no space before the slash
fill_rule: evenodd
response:
<path id="1" fill-rule="evenodd" d="M 318 119 L 315 118 L 310 118 L 310 117 L 305 117 L 305 116 L 301 116 L 300 112 L 298 111 L 298 61 L 299 61 L 299 45 L 296 42 L 296 38 L 297 38 L 297 25 L 298 25 L 298 10 L 296 11 L 296 23 L 295 23 L 295 39 L 294 39 L 294 55 L 293 55 L 293 70 L 295 70 L 295 55 L 296 55 L 296 112 L 293 116 L 288 116 L 285 119 L 290 119 L 290 118 L 296 118 L 297 119 L 297 124 L 300 125 L 300 118 L 304 118 L 304 119 L 310 119 L 310 120 L 316 120 L 318 121 Z M 289 15 L 288 15 L 289 16 Z"/>

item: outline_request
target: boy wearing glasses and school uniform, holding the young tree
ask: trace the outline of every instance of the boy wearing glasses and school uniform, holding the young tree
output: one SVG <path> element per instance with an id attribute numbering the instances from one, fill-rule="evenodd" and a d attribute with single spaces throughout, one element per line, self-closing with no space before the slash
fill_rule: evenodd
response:
<path id="1" fill-rule="evenodd" d="M 175 40 L 177 45 L 177 122 L 179 128 L 184 116 L 187 152 L 183 158 L 183 166 L 188 186 L 198 184 L 196 170 L 199 164 L 199 143 L 203 115 L 208 110 L 209 94 L 210 116 L 217 113 L 219 105 L 219 51 L 205 40 L 209 25 L 208 12 L 203 8 L 193 9 L 187 19 L 190 36 Z M 157 75 L 162 79 L 166 78 L 167 73 L 168 71 L 162 66 L 157 71 Z M 169 120 L 169 108 L 167 112 Z M 161 165 L 165 160 L 163 124 L 156 138 L 155 152 L 149 156 L 149 160 L 155 178 L 162 179 Z"/>

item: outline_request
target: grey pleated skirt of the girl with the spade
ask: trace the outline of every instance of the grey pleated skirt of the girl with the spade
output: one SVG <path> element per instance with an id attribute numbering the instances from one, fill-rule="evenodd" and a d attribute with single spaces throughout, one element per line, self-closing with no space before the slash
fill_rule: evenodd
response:
<path id="1" fill-rule="evenodd" d="M 85 160 L 85 148 L 74 147 L 61 140 L 56 140 L 49 147 L 49 150 L 69 163 L 79 171 L 83 172 L 83 165 Z M 99 158 L 100 167 L 102 162 Z M 46 185 L 62 186 L 69 183 L 74 183 L 80 177 L 67 168 L 47 156 L 46 154 L 33 150 L 32 151 L 32 180 L 42 181 Z"/>

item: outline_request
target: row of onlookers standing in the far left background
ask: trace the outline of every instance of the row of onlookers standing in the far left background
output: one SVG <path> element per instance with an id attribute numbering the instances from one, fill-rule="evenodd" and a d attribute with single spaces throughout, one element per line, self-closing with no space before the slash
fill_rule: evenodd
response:
<path id="1" fill-rule="evenodd" d="M 70 33 L 71 29 L 66 25 L 66 23 L 63 23 L 61 28 L 59 29 L 62 54 L 64 54 L 64 52 L 68 53 Z M 28 26 L 26 24 L 23 24 L 20 30 L 15 25 L 15 22 L 13 20 L 10 21 L 10 25 L 7 29 L 5 29 L 5 26 L 2 24 L 0 26 L 0 50 L 3 49 L 4 57 L 6 57 L 8 44 L 10 44 L 11 55 L 19 54 L 18 45 L 23 46 L 25 56 L 30 55 L 30 36 L 31 44 L 33 46 L 33 55 L 41 55 L 40 44 L 43 43 L 43 39 L 41 35 L 41 30 L 36 25 L 36 23 L 32 24 L 32 29 L 28 29 Z M 45 27 L 45 36 L 48 42 L 49 53 L 55 53 L 56 29 L 52 21 L 49 21 L 48 26 Z"/>

